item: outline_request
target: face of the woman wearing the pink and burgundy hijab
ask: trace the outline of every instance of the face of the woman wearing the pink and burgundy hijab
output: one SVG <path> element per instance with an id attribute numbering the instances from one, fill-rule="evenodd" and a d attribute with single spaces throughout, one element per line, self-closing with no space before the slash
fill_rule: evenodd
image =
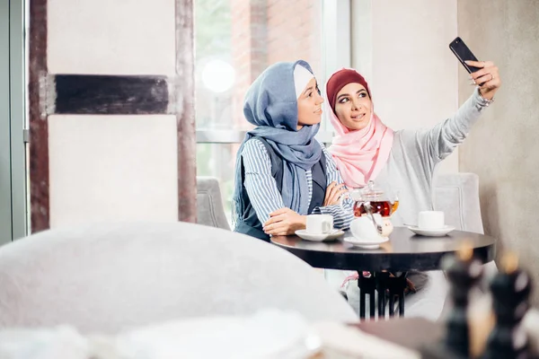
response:
<path id="1" fill-rule="evenodd" d="M 371 108 L 372 102 L 362 84 L 349 83 L 337 93 L 335 115 L 349 130 L 367 127 Z"/>

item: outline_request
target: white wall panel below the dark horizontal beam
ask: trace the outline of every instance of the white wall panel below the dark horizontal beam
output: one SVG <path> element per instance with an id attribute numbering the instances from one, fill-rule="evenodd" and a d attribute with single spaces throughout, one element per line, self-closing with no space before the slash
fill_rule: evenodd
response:
<path id="1" fill-rule="evenodd" d="M 49 116 L 50 227 L 178 220 L 176 117 Z"/>

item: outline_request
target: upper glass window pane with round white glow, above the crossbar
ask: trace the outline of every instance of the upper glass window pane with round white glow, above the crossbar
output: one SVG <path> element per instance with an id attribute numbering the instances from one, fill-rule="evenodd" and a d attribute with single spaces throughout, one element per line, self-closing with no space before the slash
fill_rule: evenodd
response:
<path id="1" fill-rule="evenodd" d="M 196 0 L 199 129 L 249 129 L 243 96 L 278 61 L 304 59 L 320 74 L 321 1 Z"/>

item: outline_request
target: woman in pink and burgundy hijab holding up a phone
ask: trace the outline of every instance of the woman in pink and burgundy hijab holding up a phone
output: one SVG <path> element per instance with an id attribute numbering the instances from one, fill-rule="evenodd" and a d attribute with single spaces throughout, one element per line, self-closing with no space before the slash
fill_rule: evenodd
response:
<path id="1" fill-rule="evenodd" d="M 326 101 L 336 136 L 329 151 L 349 188 L 362 188 L 369 180 L 377 187 L 399 193 L 399 210 L 393 225 L 416 223 L 420 211 L 432 210 L 432 179 L 436 166 L 464 142 L 482 111 L 498 91 L 498 68 L 491 62 L 468 61 L 481 69 L 471 74 L 477 86 L 451 118 L 427 130 L 386 127 L 376 116 L 367 81 L 354 69 L 332 74 L 326 85 Z M 446 299 L 443 272 L 412 273 L 418 289 L 406 300 L 407 316 L 436 320 Z M 357 285 L 348 285 L 349 300 L 358 298 Z M 354 303 L 354 307 L 357 307 Z"/>

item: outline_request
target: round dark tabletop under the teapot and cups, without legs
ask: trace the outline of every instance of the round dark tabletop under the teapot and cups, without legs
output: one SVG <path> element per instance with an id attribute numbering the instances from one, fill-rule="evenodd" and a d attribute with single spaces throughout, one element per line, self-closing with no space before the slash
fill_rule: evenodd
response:
<path id="1" fill-rule="evenodd" d="M 473 247 L 473 255 L 482 263 L 494 259 L 496 240 L 488 235 L 453 231 L 444 237 L 425 237 L 406 227 L 395 227 L 389 241 L 377 250 L 364 250 L 342 241 L 305 241 L 296 235 L 276 236 L 271 242 L 288 250 L 313 267 L 368 271 L 436 270 L 447 254 L 455 253 L 464 241 Z"/>

